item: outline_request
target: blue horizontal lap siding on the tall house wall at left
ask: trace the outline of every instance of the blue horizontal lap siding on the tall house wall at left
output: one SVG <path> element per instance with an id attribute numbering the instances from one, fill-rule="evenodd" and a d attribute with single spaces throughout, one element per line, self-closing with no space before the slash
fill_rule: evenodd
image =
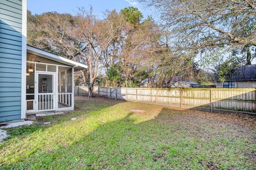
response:
<path id="1" fill-rule="evenodd" d="M 0 1 L 0 122 L 21 118 L 22 1 Z"/>

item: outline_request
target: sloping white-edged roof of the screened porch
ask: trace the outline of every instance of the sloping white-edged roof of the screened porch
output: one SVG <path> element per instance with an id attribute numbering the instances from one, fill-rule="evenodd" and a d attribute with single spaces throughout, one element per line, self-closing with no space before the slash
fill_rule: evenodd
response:
<path id="1" fill-rule="evenodd" d="M 81 63 L 75 62 L 73 60 L 69 60 L 68 58 L 61 57 L 56 54 L 49 53 L 49 52 L 46 52 L 45 50 L 42 50 L 42 49 L 39 49 L 39 48 L 36 48 L 33 46 L 29 46 L 29 45 L 27 45 L 27 52 L 30 54 L 37 55 L 39 57 L 47 58 L 49 60 L 74 67 L 75 71 L 87 69 L 87 67 L 88 67 L 85 64 L 81 64 Z"/>

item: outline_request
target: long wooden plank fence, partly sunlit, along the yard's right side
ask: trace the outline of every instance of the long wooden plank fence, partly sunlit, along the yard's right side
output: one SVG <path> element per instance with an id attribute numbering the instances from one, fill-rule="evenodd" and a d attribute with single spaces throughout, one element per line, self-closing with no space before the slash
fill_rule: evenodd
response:
<path id="1" fill-rule="evenodd" d="M 256 114 L 256 89 L 94 88 L 94 94 L 126 101 L 207 111 Z"/>

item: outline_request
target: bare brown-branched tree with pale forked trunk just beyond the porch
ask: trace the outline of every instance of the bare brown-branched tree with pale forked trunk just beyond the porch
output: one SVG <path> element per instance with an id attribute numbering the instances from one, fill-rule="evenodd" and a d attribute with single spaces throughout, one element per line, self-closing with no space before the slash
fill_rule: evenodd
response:
<path id="1" fill-rule="evenodd" d="M 98 20 L 92 9 L 87 12 L 83 8 L 79 8 L 76 16 L 45 13 L 42 18 L 41 26 L 38 24 L 36 29 L 44 34 L 37 37 L 36 45 L 42 45 L 41 39 L 46 44 L 42 48 L 64 53 L 64 56 L 88 65 L 89 79 L 84 72 L 82 75 L 84 81 L 89 80 L 89 97 L 92 97 L 94 82 L 112 57 L 107 50 L 117 36 L 118 24 L 114 25 L 108 19 Z"/>

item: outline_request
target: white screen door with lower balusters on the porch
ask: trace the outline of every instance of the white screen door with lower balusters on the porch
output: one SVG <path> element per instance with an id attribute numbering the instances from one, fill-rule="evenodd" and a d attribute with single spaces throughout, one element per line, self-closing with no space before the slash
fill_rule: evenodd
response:
<path id="1" fill-rule="evenodd" d="M 55 79 L 54 74 L 37 73 L 37 112 L 55 110 Z"/>

